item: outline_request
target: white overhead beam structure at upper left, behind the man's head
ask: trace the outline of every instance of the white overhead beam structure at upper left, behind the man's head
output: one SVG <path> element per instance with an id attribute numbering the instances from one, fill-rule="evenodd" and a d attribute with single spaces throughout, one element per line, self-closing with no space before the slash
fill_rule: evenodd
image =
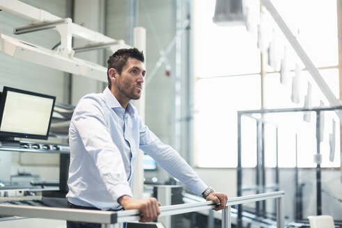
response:
<path id="1" fill-rule="evenodd" d="M 42 22 L 58 22 L 62 19 L 45 10 L 40 10 L 17 0 L 0 0 L 0 10 L 28 19 L 31 21 L 29 26 L 33 24 L 41 26 Z M 35 26 L 33 26 L 33 30 L 34 28 Z M 61 45 L 59 49 L 53 51 L 3 35 L 0 28 L 0 51 L 31 63 L 107 82 L 106 67 L 74 57 L 75 51 L 72 50 L 72 37 L 87 40 L 89 44 L 113 43 L 110 46 L 112 51 L 130 48 L 123 40 L 115 40 L 102 33 L 86 29 L 72 23 L 70 18 L 65 19 L 65 24 L 56 24 L 56 30 L 61 35 Z"/>

